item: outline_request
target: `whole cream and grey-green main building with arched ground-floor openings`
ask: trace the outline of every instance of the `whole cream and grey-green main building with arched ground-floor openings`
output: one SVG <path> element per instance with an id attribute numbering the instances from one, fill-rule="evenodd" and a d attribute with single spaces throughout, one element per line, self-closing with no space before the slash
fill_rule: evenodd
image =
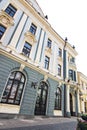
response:
<path id="1" fill-rule="evenodd" d="M 36 0 L 1 0 L 0 113 L 78 116 L 76 56 Z"/>

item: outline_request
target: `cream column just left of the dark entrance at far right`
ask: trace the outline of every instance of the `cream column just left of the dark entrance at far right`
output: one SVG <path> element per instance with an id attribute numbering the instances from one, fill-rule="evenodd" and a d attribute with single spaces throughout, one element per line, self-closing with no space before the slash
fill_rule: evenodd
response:
<path id="1" fill-rule="evenodd" d="M 70 117 L 70 96 L 69 96 L 70 85 L 66 86 L 66 116 Z"/>

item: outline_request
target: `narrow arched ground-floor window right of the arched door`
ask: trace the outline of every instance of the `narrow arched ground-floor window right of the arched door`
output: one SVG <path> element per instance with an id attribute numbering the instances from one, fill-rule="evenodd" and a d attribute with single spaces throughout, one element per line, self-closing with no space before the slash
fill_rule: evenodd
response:
<path id="1" fill-rule="evenodd" d="M 55 110 L 61 110 L 61 90 L 58 87 L 55 92 Z"/>

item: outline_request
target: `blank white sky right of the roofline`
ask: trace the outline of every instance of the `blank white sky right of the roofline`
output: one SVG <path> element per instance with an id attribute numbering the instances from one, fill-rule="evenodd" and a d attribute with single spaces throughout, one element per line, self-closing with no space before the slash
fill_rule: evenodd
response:
<path id="1" fill-rule="evenodd" d="M 87 0 L 37 0 L 54 30 L 75 46 L 77 70 L 87 76 Z"/>

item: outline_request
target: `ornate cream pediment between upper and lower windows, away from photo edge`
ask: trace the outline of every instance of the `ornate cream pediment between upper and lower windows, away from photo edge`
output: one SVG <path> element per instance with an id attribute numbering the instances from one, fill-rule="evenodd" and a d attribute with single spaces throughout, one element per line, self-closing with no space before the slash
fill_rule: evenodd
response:
<path id="1" fill-rule="evenodd" d="M 35 37 L 35 35 L 33 35 L 29 31 L 25 33 L 25 38 L 26 38 L 27 41 L 29 41 L 29 43 L 31 45 L 33 45 L 34 43 L 36 43 L 36 37 Z"/>

